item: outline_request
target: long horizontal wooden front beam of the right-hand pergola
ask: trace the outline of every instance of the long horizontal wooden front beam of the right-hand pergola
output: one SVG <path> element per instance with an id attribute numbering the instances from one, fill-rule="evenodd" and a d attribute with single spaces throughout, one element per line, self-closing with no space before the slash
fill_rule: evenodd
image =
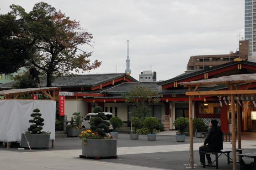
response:
<path id="1" fill-rule="evenodd" d="M 188 91 L 186 95 L 231 95 L 256 94 L 256 90 L 219 90 L 219 91 Z"/>

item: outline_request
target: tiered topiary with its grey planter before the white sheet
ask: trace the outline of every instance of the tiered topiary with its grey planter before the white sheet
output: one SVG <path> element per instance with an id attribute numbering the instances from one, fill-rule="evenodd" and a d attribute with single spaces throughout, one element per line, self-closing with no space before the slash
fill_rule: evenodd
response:
<path id="1" fill-rule="evenodd" d="M 34 109 L 31 114 L 32 120 L 29 120 L 32 125 L 27 129 L 24 134 L 21 134 L 21 147 L 24 148 L 49 148 L 50 134 L 51 132 L 41 131 L 43 130 L 44 119 L 39 109 Z"/>

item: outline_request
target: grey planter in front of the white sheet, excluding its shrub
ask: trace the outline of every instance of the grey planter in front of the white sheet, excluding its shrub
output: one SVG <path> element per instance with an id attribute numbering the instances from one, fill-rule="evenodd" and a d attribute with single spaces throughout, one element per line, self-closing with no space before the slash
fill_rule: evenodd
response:
<path id="1" fill-rule="evenodd" d="M 28 148 L 27 141 L 31 148 L 49 148 L 50 135 L 21 134 L 21 147 Z"/>

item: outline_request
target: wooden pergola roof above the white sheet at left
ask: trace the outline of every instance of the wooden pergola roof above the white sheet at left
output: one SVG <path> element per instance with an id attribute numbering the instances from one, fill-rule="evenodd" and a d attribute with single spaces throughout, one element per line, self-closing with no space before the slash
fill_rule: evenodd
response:
<path id="1" fill-rule="evenodd" d="M 18 99 L 19 95 L 32 93 L 32 100 L 34 99 L 34 93 L 41 92 L 47 95 L 51 100 L 55 100 L 55 90 L 58 90 L 59 87 L 41 87 L 41 88 L 31 88 L 31 89 L 11 89 L 11 90 L 2 90 L 0 91 L 0 95 L 4 96 L 4 99 L 0 100 L 11 100 Z M 52 91 L 52 92 L 50 92 Z M 28 99 L 26 99 L 28 100 Z"/>

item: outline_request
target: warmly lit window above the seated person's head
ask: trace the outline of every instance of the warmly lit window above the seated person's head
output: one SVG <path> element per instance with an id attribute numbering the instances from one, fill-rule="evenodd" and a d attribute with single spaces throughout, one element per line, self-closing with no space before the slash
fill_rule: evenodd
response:
<path id="1" fill-rule="evenodd" d="M 220 114 L 219 103 L 198 103 L 199 114 Z"/>

